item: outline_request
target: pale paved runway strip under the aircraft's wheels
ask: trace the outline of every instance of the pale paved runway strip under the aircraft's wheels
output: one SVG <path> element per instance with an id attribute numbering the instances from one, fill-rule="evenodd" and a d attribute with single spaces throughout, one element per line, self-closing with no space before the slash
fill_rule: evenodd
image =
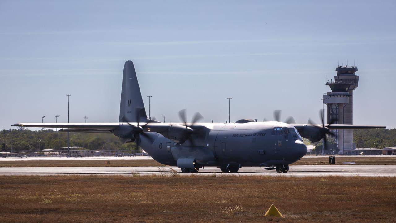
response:
<path id="1" fill-rule="evenodd" d="M 199 173 L 181 173 L 177 167 L 2 167 L 0 175 L 261 175 L 261 176 L 364 176 L 396 177 L 396 165 L 292 165 L 289 173 L 276 173 L 260 167 L 242 167 L 238 173 L 222 173 L 205 167 Z"/>

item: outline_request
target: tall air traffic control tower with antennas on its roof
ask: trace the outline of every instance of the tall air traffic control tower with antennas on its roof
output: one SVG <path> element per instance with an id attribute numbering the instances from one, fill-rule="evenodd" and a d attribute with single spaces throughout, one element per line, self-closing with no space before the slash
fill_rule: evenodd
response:
<path id="1" fill-rule="evenodd" d="M 353 124 L 353 91 L 358 87 L 359 76 L 355 75 L 358 67 L 340 66 L 335 71 L 334 81 L 327 80 L 326 85 L 331 88 L 331 92 L 323 95 L 323 103 L 327 104 L 327 123 L 335 120 L 334 124 Z M 344 150 L 354 149 L 352 142 L 353 130 L 332 130 L 335 134 L 340 154 Z"/>

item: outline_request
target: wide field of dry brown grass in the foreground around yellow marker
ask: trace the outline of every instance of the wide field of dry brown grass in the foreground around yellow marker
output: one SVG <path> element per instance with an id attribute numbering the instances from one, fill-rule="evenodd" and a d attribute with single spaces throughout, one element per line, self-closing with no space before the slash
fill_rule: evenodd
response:
<path id="1" fill-rule="evenodd" d="M 2 222 L 395 222 L 396 179 L 1 176 Z M 263 217 L 271 204 L 284 219 Z"/>

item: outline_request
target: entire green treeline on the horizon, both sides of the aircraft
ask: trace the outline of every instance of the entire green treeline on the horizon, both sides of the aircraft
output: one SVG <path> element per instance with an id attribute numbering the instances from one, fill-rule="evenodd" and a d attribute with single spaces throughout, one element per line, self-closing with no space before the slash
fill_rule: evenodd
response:
<path id="1" fill-rule="evenodd" d="M 29 129 L 3 129 L 0 131 L 0 150 L 43 150 L 67 147 L 67 133 L 51 129 L 32 131 Z M 305 140 L 306 143 L 308 141 Z M 356 148 L 384 148 L 396 146 L 396 129 L 355 129 L 353 142 Z M 314 143 L 321 149 L 321 142 Z M 328 149 L 334 142 L 329 138 Z M 70 133 L 70 147 L 81 146 L 89 150 L 134 150 L 135 143 L 124 143 L 124 140 L 112 134 Z"/>

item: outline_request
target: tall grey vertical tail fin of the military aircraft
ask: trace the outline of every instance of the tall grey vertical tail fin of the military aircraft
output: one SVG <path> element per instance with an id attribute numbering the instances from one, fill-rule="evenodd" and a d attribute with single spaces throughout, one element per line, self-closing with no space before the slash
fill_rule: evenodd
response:
<path id="1" fill-rule="evenodd" d="M 147 114 L 143 104 L 139 83 L 133 62 L 128 60 L 122 75 L 120 122 L 146 122 Z"/>

